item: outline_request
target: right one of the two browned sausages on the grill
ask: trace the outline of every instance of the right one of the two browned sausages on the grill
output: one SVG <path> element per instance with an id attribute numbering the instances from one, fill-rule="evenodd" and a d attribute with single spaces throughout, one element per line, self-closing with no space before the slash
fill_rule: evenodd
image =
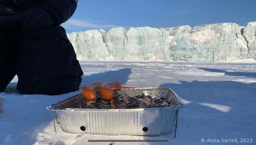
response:
<path id="1" fill-rule="evenodd" d="M 108 82 L 101 85 L 99 88 L 99 94 L 105 100 L 111 100 L 115 96 L 113 90 L 120 89 L 121 84 L 119 82 Z"/>

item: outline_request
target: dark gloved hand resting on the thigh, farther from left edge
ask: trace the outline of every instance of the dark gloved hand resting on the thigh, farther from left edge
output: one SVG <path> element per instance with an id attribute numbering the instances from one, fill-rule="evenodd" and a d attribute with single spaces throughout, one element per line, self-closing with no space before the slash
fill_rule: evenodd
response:
<path id="1" fill-rule="evenodd" d="M 52 25 L 54 25 L 54 19 L 48 12 L 44 11 L 43 9 L 32 8 L 24 12 L 22 29 L 26 31 L 33 31 Z"/>

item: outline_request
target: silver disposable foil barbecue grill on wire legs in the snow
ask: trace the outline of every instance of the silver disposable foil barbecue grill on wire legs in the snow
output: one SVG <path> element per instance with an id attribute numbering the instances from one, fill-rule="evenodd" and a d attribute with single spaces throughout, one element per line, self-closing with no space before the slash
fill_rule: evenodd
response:
<path id="1" fill-rule="evenodd" d="M 184 103 L 171 89 L 136 88 L 114 92 L 113 101 L 104 100 L 97 91 L 95 101 L 87 101 L 78 94 L 48 109 L 52 111 L 53 120 L 68 133 L 153 136 L 174 131 L 176 136 L 178 111 Z"/>

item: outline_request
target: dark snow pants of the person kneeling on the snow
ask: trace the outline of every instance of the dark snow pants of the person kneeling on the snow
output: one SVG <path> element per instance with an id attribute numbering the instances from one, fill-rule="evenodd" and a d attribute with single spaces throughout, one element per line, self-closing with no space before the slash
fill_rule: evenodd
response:
<path id="1" fill-rule="evenodd" d="M 23 94 L 58 95 L 77 91 L 83 72 L 61 26 L 0 30 L 0 92 L 15 75 Z"/>

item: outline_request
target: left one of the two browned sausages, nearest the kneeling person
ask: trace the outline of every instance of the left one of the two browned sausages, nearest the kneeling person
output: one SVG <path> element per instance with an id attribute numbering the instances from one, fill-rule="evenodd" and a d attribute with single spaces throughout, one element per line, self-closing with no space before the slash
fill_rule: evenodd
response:
<path id="1" fill-rule="evenodd" d="M 84 86 L 82 89 L 82 95 L 88 101 L 94 101 L 96 99 L 96 92 L 99 90 L 99 87 L 102 85 L 101 81 L 91 82 L 88 85 Z"/>

